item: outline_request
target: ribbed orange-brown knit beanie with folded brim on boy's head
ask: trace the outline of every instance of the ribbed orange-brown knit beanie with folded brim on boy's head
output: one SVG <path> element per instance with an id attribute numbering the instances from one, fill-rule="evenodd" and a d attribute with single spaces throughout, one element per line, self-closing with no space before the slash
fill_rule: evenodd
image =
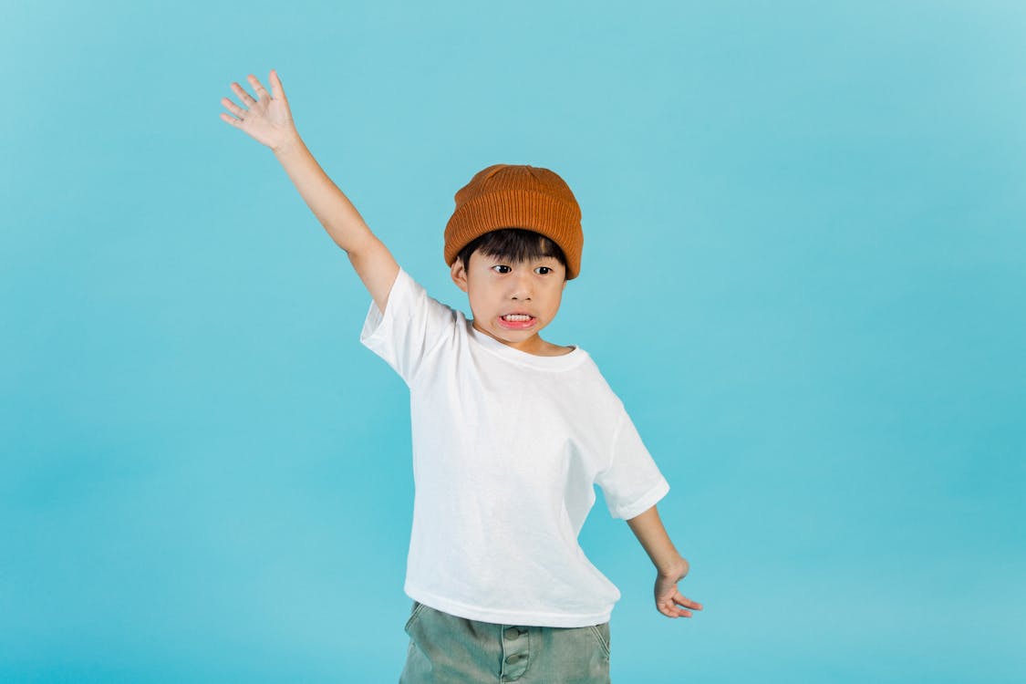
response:
<path id="1" fill-rule="evenodd" d="M 569 186 L 539 166 L 492 164 L 457 191 L 445 225 L 445 264 L 474 239 L 502 228 L 523 228 L 551 239 L 566 255 L 566 279 L 581 271 L 581 207 Z"/>

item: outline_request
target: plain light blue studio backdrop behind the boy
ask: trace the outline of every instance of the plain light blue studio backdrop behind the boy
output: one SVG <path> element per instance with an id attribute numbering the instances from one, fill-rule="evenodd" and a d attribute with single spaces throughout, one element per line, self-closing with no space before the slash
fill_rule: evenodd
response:
<path id="1" fill-rule="evenodd" d="M 623 683 L 1026 678 L 1026 5 L 7 2 L 0 680 L 389 682 L 408 395 L 273 154 L 279 71 L 399 263 L 452 195 L 560 173 L 545 335 L 671 483 L 671 620 L 601 497 Z"/>

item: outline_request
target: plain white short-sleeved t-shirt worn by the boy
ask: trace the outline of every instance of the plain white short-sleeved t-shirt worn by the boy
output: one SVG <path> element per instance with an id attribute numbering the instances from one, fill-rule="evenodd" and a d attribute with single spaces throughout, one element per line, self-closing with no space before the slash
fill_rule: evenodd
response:
<path id="1" fill-rule="evenodd" d="M 371 300 L 360 341 L 409 387 L 405 593 L 500 625 L 608 620 L 620 591 L 578 544 L 593 485 L 624 519 L 670 486 L 591 357 L 504 345 L 401 269 L 385 309 Z"/>

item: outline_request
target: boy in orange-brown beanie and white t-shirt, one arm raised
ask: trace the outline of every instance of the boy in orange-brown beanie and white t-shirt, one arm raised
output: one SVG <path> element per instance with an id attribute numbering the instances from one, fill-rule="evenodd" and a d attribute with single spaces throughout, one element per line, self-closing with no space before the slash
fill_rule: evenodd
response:
<path id="1" fill-rule="evenodd" d="M 473 318 L 429 297 L 307 150 L 277 73 L 232 89 L 227 123 L 271 148 L 372 301 L 360 340 L 410 389 L 416 493 L 401 682 L 609 681 L 619 590 L 578 534 L 602 487 L 657 567 L 657 608 L 702 605 L 656 502 L 669 485 L 588 354 L 539 332 L 581 268 L 581 211 L 557 174 L 495 164 L 456 195 L 444 258 Z M 272 96 L 273 94 L 273 96 Z"/>

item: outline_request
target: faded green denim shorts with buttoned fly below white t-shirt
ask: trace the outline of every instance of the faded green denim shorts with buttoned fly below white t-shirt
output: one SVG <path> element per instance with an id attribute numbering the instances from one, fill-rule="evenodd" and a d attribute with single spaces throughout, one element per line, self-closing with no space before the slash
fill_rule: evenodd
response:
<path id="1" fill-rule="evenodd" d="M 413 601 L 399 684 L 609 684 L 609 623 L 524 627 L 457 617 Z"/>

